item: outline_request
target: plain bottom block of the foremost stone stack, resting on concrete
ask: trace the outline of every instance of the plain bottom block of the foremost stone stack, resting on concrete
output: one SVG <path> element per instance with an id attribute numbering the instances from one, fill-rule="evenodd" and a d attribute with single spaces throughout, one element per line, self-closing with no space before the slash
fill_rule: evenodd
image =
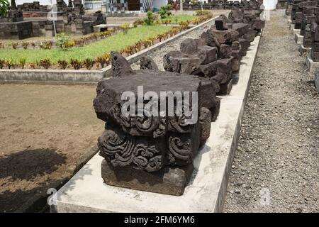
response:
<path id="1" fill-rule="evenodd" d="M 193 165 L 167 166 L 157 172 L 145 172 L 131 167 L 115 168 L 103 160 L 101 175 L 104 183 L 116 187 L 181 196 L 184 194 L 193 169 Z"/>

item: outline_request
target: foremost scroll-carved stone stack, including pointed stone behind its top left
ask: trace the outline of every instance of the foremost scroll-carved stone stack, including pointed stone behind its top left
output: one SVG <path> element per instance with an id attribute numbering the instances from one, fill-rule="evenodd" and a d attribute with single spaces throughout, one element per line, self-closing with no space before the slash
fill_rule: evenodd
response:
<path id="1" fill-rule="evenodd" d="M 212 82 L 177 72 L 133 71 L 118 52 L 111 53 L 111 60 L 113 77 L 99 82 L 94 99 L 97 117 L 106 122 L 106 130 L 98 140 L 100 155 L 105 158 L 104 182 L 162 194 L 183 194 L 198 148 L 210 135 L 209 109 L 216 105 Z M 138 86 L 143 86 L 145 97 L 150 92 L 152 97 L 163 97 L 162 92 L 189 92 L 191 101 L 181 104 L 180 99 L 173 97 L 169 104 L 167 96 L 158 100 L 149 97 L 145 101 Z M 137 109 L 129 108 L 129 115 L 122 111 L 128 109 L 122 100 L 124 92 L 130 92 L 133 104 L 138 103 Z M 194 94 L 198 94 L 197 104 Z M 154 105 L 161 107 L 157 109 Z M 152 106 L 152 110 L 147 106 Z M 188 116 L 186 109 L 194 113 Z M 176 112 L 172 115 L 169 111 Z M 182 115 L 177 115 L 178 111 Z M 134 115 L 139 113 L 142 115 Z M 134 183 L 136 179 L 140 182 Z"/>

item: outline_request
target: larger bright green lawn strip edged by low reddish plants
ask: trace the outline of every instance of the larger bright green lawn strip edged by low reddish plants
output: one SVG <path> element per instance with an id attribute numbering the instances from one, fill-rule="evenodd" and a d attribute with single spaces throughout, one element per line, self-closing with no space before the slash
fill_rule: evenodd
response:
<path id="1" fill-rule="evenodd" d="M 125 35 L 119 33 L 82 48 L 71 48 L 68 50 L 0 49 L 0 59 L 18 61 L 20 58 L 26 57 L 27 63 L 35 63 L 44 58 L 50 59 L 52 63 L 57 63 L 57 60 L 70 60 L 71 58 L 84 60 L 86 58 L 101 56 L 106 52 L 119 51 L 126 46 L 133 45 L 138 40 L 155 37 L 160 33 L 169 31 L 169 29 L 171 28 L 167 26 L 141 26 L 130 29 Z"/>

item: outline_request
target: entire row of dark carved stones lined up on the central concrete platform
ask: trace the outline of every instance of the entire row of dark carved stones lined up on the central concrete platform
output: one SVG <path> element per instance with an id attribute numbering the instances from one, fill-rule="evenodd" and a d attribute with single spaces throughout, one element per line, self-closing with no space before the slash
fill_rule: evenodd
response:
<path id="1" fill-rule="evenodd" d="M 234 10 L 230 18 L 220 16 L 201 38 L 186 39 L 180 50 L 164 55 L 165 72 L 150 57 L 142 57 L 140 70 L 132 70 L 118 52 L 111 53 L 113 77 L 98 83 L 94 99 L 97 117 L 106 122 L 98 140 L 106 184 L 161 194 L 184 193 L 194 157 L 213 133 L 211 121 L 218 118 L 216 94 L 229 94 L 241 58 L 262 29 L 258 16 L 253 10 Z M 146 101 L 139 86 L 142 95 L 151 94 Z M 136 109 L 122 99 L 124 92 L 130 92 L 125 97 L 138 104 Z M 173 97 L 169 105 L 169 96 L 161 92 L 189 94 L 191 101 L 185 104 L 183 96 L 180 105 L 180 99 Z M 123 109 L 130 114 L 123 114 Z M 191 116 L 187 110 L 192 111 Z"/>

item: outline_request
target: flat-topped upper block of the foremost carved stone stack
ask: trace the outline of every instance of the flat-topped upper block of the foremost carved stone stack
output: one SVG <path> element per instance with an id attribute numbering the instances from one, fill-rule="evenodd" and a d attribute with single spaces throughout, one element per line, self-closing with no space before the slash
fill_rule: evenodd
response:
<path id="1" fill-rule="evenodd" d="M 127 75 L 128 76 L 128 75 Z M 167 118 L 167 112 L 160 114 L 157 109 L 157 116 L 125 116 L 122 113 L 123 104 L 122 94 L 132 92 L 132 99 L 138 100 L 138 86 L 143 86 L 143 92 L 154 92 L 160 97 L 160 92 L 200 92 L 201 80 L 198 77 L 189 74 L 178 74 L 174 72 L 161 72 L 156 70 L 134 71 L 129 75 L 130 83 L 121 77 L 113 77 L 106 81 L 98 83 L 96 88 L 96 98 L 94 99 L 94 109 L 96 115 L 102 121 L 110 122 L 121 126 L 125 133 L 134 136 L 150 136 L 157 138 L 164 136 L 171 128 L 173 132 L 185 133 L 191 131 L 195 123 L 186 123 L 180 121 L 183 116 L 178 118 Z M 206 94 L 206 98 L 213 101 L 213 97 Z M 167 98 L 168 99 L 168 98 Z M 204 100 L 203 100 L 204 101 Z M 150 100 L 148 105 L 160 105 L 160 100 Z M 145 105 L 137 106 L 135 112 L 139 113 L 141 109 L 145 111 Z M 201 106 L 201 100 L 198 100 L 198 108 Z M 127 108 L 127 107 L 126 107 Z M 173 126 L 169 128 L 169 126 Z"/>

